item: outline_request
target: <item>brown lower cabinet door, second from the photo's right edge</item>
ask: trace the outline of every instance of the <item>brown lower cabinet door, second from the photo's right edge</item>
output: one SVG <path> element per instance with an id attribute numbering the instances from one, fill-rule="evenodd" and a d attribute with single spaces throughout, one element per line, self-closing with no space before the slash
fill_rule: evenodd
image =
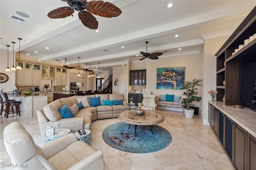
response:
<path id="1" fill-rule="evenodd" d="M 246 170 L 247 131 L 234 123 L 234 168 Z"/>

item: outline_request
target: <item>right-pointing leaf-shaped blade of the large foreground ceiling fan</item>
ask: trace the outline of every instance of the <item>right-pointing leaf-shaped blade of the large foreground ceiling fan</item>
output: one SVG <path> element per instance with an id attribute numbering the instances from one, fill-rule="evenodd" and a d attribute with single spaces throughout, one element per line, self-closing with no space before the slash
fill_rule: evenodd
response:
<path id="1" fill-rule="evenodd" d="M 88 12 L 107 18 L 117 17 L 122 13 L 122 11 L 118 7 L 114 6 L 114 4 L 104 2 L 102 0 L 86 2 L 85 6 Z"/>

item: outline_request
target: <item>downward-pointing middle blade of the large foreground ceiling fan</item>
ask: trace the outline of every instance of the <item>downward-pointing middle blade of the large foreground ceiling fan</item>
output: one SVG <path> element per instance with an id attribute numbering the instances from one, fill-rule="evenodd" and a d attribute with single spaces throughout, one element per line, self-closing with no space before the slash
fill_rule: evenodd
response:
<path id="1" fill-rule="evenodd" d="M 84 26 L 90 29 L 97 29 L 98 28 L 98 21 L 96 18 L 87 11 L 80 11 L 78 14 L 79 19 L 84 24 Z"/>

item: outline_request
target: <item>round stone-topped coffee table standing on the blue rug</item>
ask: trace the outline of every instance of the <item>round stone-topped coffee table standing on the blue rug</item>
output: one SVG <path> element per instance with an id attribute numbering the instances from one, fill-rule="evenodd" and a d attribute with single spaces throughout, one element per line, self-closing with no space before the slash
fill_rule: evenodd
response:
<path id="1" fill-rule="evenodd" d="M 135 136 L 136 136 L 136 128 L 138 125 L 151 126 L 151 132 L 153 133 L 153 125 L 158 123 L 162 123 L 164 121 L 164 116 L 154 112 L 154 111 L 145 111 L 143 115 L 137 115 L 135 111 L 129 110 L 124 111 L 118 114 L 118 119 L 125 123 L 129 123 L 134 125 Z"/>

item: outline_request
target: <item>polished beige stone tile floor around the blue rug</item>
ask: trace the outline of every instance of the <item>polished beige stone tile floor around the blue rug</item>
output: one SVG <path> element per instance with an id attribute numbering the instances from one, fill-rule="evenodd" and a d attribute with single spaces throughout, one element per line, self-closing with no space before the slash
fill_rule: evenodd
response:
<path id="1" fill-rule="evenodd" d="M 92 122 L 92 147 L 102 150 L 105 170 L 234 170 L 224 153 L 214 132 L 208 125 L 203 125 L 198 116 L 187 119 L 181 112 L 156 110 L 164 115 L 164 122 L 159 125 L 172 134 L 172 143 L 158 152 L 147 154 L 129 153 L 114 149 L 102 139 L 102 131 L 118 118 L 101 119 Z M 3 140 L 3 130 L 11 122 L 18 121 L 33 136 L 35 143 L 44 145 L 39 133 L 37 117 L 18 117 L 10 115 L 8 119 L 0 117 L 0 169 L 2 164 L 11 163 Z"/>

